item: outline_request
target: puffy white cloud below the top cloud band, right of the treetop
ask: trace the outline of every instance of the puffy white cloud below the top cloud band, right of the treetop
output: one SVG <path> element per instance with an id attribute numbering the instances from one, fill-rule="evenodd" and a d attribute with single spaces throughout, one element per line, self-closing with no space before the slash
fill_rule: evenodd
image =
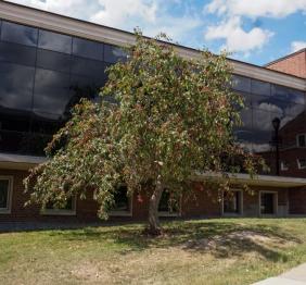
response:
<path id="1" fill-rule="evenodd" d="M 247 53 L 262 48 L 272 35 L 271 32 L 258 27 L 245 32 L 242 28 L 241 17 L 233 16 L 219 25 L 208 26 L 205 39 L 225 39 L 226 44 L 221 47 L 222 49 Z"/>

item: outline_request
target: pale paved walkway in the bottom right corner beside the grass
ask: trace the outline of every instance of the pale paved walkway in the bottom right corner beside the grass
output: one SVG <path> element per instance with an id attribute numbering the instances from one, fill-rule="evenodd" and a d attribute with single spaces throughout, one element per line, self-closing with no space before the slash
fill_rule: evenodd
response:
<path id="1" fill-rule="evenodd" d="M 306 263 L 292 269 L 277 277 L 264 280 L 256 285 L 306 285 Z M 255 285 L 254 284 L 254 285 Z"/>

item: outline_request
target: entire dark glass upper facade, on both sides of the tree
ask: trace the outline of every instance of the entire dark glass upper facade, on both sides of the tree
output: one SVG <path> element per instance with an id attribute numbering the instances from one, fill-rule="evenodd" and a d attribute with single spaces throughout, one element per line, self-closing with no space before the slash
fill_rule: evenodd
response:
<path id="1" fill-rule="evenodd" d="M 106 66 L 126 59 L 112 45 L 0 20 L 0 152 L 43 156 L 71 108 L 81 97 L 97 98 Z M 281 175 L 305 176 L 297 165 L 306 160 L 298 144 L 306 134 L 305 92 L 238 75 L 233 89 L 245 101 L 237 140 L 266 159 L 268 174 L 286 165 Z"/>

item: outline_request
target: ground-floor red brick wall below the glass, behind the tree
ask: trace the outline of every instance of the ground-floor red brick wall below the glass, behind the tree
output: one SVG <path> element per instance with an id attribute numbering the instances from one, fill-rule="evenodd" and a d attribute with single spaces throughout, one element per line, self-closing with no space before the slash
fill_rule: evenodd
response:
<path id="1" fill-rule="evenodd" d="M 9 171 L 1 170 L 0 175 L 13 175 L 13 195 L 11 214 L 0 214 L 0 222 L 11 221 L 98 221 L 97 211 L 98 205 L 92 199 L 92 194 L 88 194 L 86 200 L 77 200 L 76 215 L 41 215 L 40 209 L 37 206 L 24 208 L 28 195 L 24 194 L 23 179 L 26 177 L 26 171 Z M 221 205 L 218 201 L 217 190 L 207 190 L 202 183 L 194 183 L 192 186 L 194 191 L 184 194 L 181 199 L 181 216 L 196 218 L 196 216 L 220 216 Z M 239 188 L 235 186 L 234 188 Z M 278 191 L 278 205 L 281 207 L 288 206 L 290 199 L 290 213 L 306 214 L 306 189 L 278 189 L 275 187 L 254 187 L 253 194 L 243 193 L 244 215 L 258 215 L 258 191 L 273 190 Z M 146 194 L 135 195 L 132 197 L 132 219 L 145 220 L 148 216 L 149 196 Z M 112 218 L 114 219 L 114 218 Z M 119 218 L 130 219 L 130 218 Z"/>

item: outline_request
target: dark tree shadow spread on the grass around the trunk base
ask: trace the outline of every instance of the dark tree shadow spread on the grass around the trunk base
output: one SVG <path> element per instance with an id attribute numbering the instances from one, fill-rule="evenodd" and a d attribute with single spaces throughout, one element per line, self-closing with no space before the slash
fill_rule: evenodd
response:
<path id="1" fill-rule="evenodd" d="M 148 237 L 143 225 L 114 227 L 86 227 L 77 231 L 51 232 L 71 241 L 112 243 L 127 255 L 149 248 L 174 248 L 197 253 L 209 253 L 216 258 L 228 258 L 255 252 L 273 262 L 285 262 L 285 247 L 302 243 L 283 228 L 271 224 L 224 222 L 217 220 L 170 222 L 164 224 L 164 235 Z"/>

